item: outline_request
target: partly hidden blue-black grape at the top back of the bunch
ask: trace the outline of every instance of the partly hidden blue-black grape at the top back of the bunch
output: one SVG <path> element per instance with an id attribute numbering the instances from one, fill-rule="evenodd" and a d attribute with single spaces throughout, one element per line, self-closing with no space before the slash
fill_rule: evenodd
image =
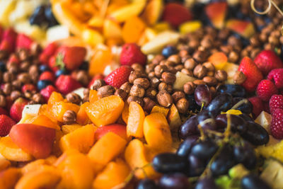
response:
<path id="1" fill-rule="evenodd" d="M 217 93 L 229 93 L 233 97 L 246 97 L 246 90 L 243 86 L 224 84 L 217 88 Z"/>

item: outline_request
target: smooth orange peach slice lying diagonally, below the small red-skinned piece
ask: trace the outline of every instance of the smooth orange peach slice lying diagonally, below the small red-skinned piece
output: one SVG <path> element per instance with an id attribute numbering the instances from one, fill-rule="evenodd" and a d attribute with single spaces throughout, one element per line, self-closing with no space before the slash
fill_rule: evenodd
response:
<path id="1" fill-rule="evenodd" d="M 106 165 L 126 147 L 127 141 L 114 132 L 108 132 L 101 137 L 88 152 L 88 157 L 94 164 Z"/>

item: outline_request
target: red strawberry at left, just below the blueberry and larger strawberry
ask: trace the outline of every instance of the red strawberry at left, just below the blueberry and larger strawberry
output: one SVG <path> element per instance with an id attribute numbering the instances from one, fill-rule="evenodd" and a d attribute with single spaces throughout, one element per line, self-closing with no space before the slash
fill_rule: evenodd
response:
<path id="1" fill-rule="evenodd" d="M 60 93 L 67 95 L 67 93 L 76 90 L 76 88 L 80 88 L 81 84 L 69 75 L 61 75 L 57 78 L 55 86 Z"/>

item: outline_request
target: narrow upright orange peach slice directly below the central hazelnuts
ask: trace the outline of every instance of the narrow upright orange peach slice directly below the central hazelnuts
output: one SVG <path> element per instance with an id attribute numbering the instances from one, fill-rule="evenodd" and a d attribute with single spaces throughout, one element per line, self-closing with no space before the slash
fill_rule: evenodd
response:
<path id="1" fill-rule="evenodd" d="M 129 118 L 127 122 L 127 136 L 144 137 L 144 110 L 136 102 L 129 103 Z"/>

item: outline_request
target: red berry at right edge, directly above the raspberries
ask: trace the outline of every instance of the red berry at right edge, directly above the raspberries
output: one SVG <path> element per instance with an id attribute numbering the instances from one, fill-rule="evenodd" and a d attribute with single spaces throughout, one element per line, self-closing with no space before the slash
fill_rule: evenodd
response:
<path id="1" fill-rule="evenodd" d="M 265 76 L 272 69 L 283 67 L 281 59 L 272 50 L 262 50 L 262 52 L 255 57 L 254 62 Z"/>

